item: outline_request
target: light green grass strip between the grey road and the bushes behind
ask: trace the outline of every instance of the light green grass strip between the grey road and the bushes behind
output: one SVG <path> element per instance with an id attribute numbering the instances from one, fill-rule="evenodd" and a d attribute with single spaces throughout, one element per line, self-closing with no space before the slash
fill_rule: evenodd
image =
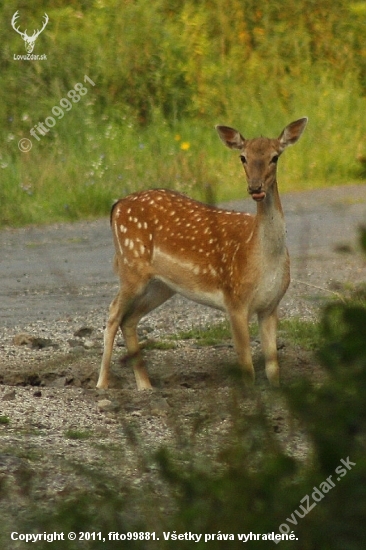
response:
<path id="1" fill-rule="evenodd" d="M 156 115 L 147 127 L 112 116 L 100 121 L 92 113 L 86 123 L 87 107 L 78 105 L 29 153 L 10 151 L 9 145 L 1 153 L 0 226 L 104 216 L 117 198 L 150 187 L 174 188 L 209 202 L 246 198 L 238 155 L 220 142 L 216 123 L 235 126 L 248 138 L 276 137 L 286 124 L 308 115 L 301 141 L 280 159 L 281 193 L 361 181 L 356 154 L 366 151 L 366 119 L 359 117 L 366 98 L 351 99 L 348 90 L 327 83 L 316 93 L 313 88 L 313 83 L 304 91 L 295 87 L 293 107 L 271 117 L 267 106 L 252 101 L 250 111 L 210 120 L 171 124 Z"/>

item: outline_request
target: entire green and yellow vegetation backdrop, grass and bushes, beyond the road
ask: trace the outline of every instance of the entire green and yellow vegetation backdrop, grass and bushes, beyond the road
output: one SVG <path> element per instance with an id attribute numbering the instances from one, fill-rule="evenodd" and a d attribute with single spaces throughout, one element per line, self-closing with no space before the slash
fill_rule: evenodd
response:
<path id="1" fill-rule="evenodd" d="M 20 30 L 40 28 L 24 61 Z M 25 0 L 0 3 L 0 225 L 104 215 L 132 190 L 243 196 L 214 131 L 275 136 L 310 119 L 283 190 L 364 176 L 366 3 L 346 0 Z M 84 82 L 87 75 L 94 83 Z M 77 83 L 80 101 L 52 114 Z M 30 130 L 52 116 L 37 141 Z M 33 147 L 23 153 L 22 138 Z"/>

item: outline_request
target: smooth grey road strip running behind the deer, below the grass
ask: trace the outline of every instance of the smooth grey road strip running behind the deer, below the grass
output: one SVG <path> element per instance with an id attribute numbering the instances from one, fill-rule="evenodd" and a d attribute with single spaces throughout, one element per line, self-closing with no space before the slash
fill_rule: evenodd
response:
<path id="1" fill-rule="evenodd" d="M 365 279 L 359 258 L 335 249 L 355 245 L 357 228 L 366 222 L 366 185 L 288 194 L 282 202 L 295 280 L 283 310 L 305 314 L 308 307 L 302 300 L 312 290 L 297 280 L 329 288 Z M 254 211 L 255 205 L 247 199 L 228 207 Z M 94 324 L 101 325 L 118 287 L 112 257 L 108 219 L 0 231 L 2 328 L 52 324 L 92 312 L 98 315 Z M 163 309 L 165 315 L 170 307 Z M 196 313 L 194 308 L 193 320 Z"/>

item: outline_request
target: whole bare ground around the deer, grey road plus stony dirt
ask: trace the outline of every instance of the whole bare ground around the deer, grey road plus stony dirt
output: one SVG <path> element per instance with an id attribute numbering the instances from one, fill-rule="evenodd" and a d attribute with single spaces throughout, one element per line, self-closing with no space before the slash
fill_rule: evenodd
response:
<path id="1" fill-rule="evenodd" d="M 365 281 L 357 228 L 366 221 L 366 185 L 282 200 L 292 284 L 281 315 L 314 319 L 326 300 Z M 228 207 L 254 210 L 248 200 Z M 70 464 L 102 470 L 138 488 L 156 475 L 142 466 L 142 457 L 161 445 L 191 441 L 197 419 L 203 428 L 195 437 L 205 459 L 214 459 L 227 437 L 237 400 L 230 370 L 235 352 L 230 341 L 203 348 L 194 340 L 167 340 L 222 319 L 183 298 L 174 297 L 140 325 L 142 339 L 170 342 L 168 349 L 145 351 L 154 391 L 137 392 L 131 369 L 120 360 L 121 338 L 110 389 L 95 389 L 103 325 L 118 288 L 112 257 L 107 219 L 0 232 L 0 476 L 11 480 L 9 517 L 26 509 L 30 499 L 53 501 L 83 485 Z M 259 399 L 279 443 L 304 460 L 310 452 L 306 434 L 269 389 L 257 340 L 252 347 L 257 389 L 241 392 L 241 410 L 250 415 Z M 304 374 L 314 383 L 321 380 L 310 352 L 281 334 L 279 348 L 282 385 Z M 27 491 L 19 489 L 25 470 L 35 474 Z"/>

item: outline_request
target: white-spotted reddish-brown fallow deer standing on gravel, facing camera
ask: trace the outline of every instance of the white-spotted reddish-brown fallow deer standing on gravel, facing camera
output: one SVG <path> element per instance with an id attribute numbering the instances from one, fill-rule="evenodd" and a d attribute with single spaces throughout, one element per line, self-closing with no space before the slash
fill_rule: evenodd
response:
<path id="1" fill-rule="evenodd" d="M 265 370 L 279 385 L 277 306 L 290 282 L 277 160 L 300 138 L 307 118 L 277 139 L 245 139 L 217 126 L 225 145 L 240 151 L 256 215 L 222 210 L 165 189 L 133 193 L 112 208 L 120 290 L 110 306 L 98 388 L 108 387 L 114 339 L 121 327 L 139 390 L 151 388 L 138 344 L 140 319 L 176 292 L 225 311 L 245 378 L 254 381 L 250 317 L 258 316 Z"/>

